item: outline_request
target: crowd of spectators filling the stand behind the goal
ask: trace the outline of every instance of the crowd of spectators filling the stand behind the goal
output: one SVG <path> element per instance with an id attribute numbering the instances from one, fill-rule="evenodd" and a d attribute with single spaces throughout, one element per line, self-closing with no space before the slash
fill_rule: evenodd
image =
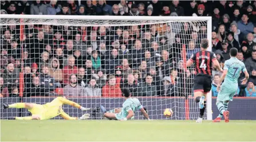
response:
<path id="1" fill-rule="evenodd" d="M 250 79 L 237 96 L 256 96 L 256 1 L 2 1 L 1 14 L 208 16 L 212 51 L 223 67 L 229 49 L 246 64 Z M 9 21 L 9 23 L 14 21 Z M 206 22 L 171 22 L 132 26 L 19 25 L 1 27 L 0 95 L 119 97 L 192 95 L 194 70 L 186 58 L 207 38 Z M 23 50 L 21 50 L 23 49 Z M 23 76 L 20 76 L 23 68 Z M 212 71 L 212 95 L 221 72 Z"/>

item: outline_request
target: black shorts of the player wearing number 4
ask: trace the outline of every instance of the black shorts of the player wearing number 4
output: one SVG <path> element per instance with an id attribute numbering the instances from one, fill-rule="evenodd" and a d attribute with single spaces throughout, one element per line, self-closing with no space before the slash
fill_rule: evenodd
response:
<path id="1" fill-rule="evenodd" d="M 198 75 L 194 78 L 194 92 L 208 93 L 211 91 L 211 77 Z"/>

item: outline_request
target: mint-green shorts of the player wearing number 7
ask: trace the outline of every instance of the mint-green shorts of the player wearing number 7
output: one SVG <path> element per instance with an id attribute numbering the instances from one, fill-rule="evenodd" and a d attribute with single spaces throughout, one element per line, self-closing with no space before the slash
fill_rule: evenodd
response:
<path id="1" fill-rule="evenodd" d="M 232 101 L 235 93 L 237 92 L 238 85 L 235 84 L 222 84 L 217 96 L 217 101 L 225 102 L 227 100 Z"/>

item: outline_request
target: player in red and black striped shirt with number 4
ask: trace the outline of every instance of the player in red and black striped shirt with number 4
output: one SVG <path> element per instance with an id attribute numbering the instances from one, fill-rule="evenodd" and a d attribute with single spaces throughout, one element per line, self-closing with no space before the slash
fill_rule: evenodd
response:
<path id="1" fill-rule="evenodd" d="M 218 60 L 214 52 L 207 51 L 209 47 L 208 39 L 202 39 L 201 51 L 195 52 L 187 61 L 187 67 L 192 66 L 195 62 L 195 78 L 194 78 L 194 98 L 195 102 L 199 103 L 200 113 L 196 122 L 202 122 L 204 110 L 206 108 L 206 95 L 211 91 L 212 64 L 223 71 L 219 66 Z"/>

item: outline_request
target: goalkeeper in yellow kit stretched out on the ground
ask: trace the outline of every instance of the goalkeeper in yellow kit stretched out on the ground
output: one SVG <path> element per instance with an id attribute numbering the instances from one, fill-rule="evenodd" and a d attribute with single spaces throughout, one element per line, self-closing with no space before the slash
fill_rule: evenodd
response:
<path id="1" fill-rule="evenodd" d="M 84 108 L 79 104 L 65 99 L 65 96 L 58 96 L 56 99 L 52 100 L 50 103 L 46 104 L 35 104 L 35 103 L 15 103 L 15 104 L 5 104 L 3 103 L 3 108 L 27 108 L 28 111 L 32 113 L 32 116 L 27 117 L 8 117 L 8 119 L 13 120 L 47 120 L 52 119 L 60 115 L 66 120 L 84 120 L 89 118 L 89 114 L 84 114 L 81 117 L 70 117 L 62 109 L 63 104 L 68 104 L 70 106 L 80 108 L 82 111 L 89 110 L 90 108 Z"/>

